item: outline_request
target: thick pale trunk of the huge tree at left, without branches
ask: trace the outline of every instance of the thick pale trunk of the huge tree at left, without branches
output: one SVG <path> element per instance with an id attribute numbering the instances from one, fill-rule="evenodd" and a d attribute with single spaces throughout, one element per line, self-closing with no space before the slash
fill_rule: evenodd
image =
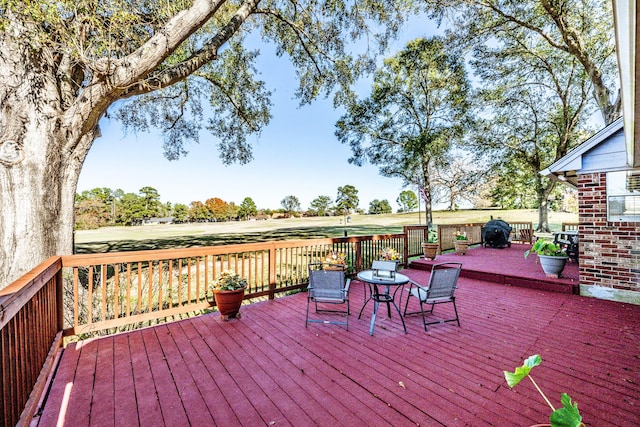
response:
<path id="1" fill-rule="evenodd" d="M 0 58 L 0 69 L 9 58 Z M 0 75 L 0 288 L 72 252 L 76 185 L 96 135 L 74 143 L 79 130 L 64 124 L 46 65 L 10 65 L 14 72 Z"/>

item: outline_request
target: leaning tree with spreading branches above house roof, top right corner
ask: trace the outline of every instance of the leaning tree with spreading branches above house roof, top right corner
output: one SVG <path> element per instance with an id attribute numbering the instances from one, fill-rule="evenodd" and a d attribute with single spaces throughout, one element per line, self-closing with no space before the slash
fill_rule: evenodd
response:
<path id="1" fill-rule="evenodd" d="M 587 76 L 605 124 L 621 115 L 611 1 L 425 0 L 433 17 L 450 18 L 450 37 L 469 47 L 491 46 L 509 33 L 551 57 L 573 62 Z M 544 45 L 544 46 L 543 46 Z"/>

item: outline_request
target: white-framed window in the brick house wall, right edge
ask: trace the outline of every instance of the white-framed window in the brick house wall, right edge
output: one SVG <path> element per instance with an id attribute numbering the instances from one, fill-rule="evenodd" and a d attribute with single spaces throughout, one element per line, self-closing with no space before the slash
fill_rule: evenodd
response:
<path id="1" fill-rule="evenodd" d="M 640 222 L 640 170 L 607 173 L 607 219 Z"/>

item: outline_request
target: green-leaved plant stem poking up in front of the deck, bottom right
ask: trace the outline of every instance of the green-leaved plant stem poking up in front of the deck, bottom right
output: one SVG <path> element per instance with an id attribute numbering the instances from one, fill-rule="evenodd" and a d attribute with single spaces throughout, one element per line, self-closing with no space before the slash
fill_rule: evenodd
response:
<path id="1" fill-rule="evenodd" d="M 571 397 L 567 393 L 562 393 L 560 402 L 562 408 L 556 409 L 553 407 L 547 396 L 542 392 L 538 384 L 533 380 L 530 375 L 531 370 L 542 363 L 542 357 L 539 354 L 529 356 L 524 364 L 517 367 L 514 372 L 504 371 L 504 378 L 507 380 L 509 387 L 513 388 L 520 383 L 525 377 L 529 377 L 538 393 L 542 396 L 547 405 L 551 407 L 553 411 L 549 417 L 552 427 L 580 427 L 584 426 L 582 423 L 582 416 L 578 412 L 578 404 L 571 401 Z"/>

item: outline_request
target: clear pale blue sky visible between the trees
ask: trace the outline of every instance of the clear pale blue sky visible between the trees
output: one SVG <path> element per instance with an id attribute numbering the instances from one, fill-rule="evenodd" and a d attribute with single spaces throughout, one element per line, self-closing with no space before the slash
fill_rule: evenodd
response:
<path id="1" fill-rule="evenodd" d="M 433 34 L 435 25 L 414 18 L 387 56 L 391 56 L 416 37 Z M 85 159 L 77 192 L 107 187 L 138 193 L 142 187 L 155 188 L 163 203 L 189 205 L 219 197 L 239 205 L 251 197 L 258 209 L 279 209 L 281 200 L 293 195 L 303 210 L 321 195 L 335 200 L 338 187 L 353 185 L 358 190 L 360 208 L 386 199 L 394 211 L 403 188 L 400 178 L 386 178 L 372 165 L 348 163 L 351 149 L 334 135 L 335 123 L 342 116 L 331 99 L 319 99 L 299 107 L 294 99 L 297 87 L 287 58 L 277 58 L 273 48 L 260 47 L 258 69 L 272 94 L 272 119 L 259 137 L 251 137 L 253 161 L 246 165 L 225 166 L 219 159 L 217 141 L 202 130 L 200 142 L 186 147 L 189 154 L 177 161 L 162 155 L 160 133 L 129 133 L 125 136 L 116 120 L 100 121 L 102 136 L 94 142 Z M 360 85 L 364 97 L 368 85 Z M 417 193 L 417 189 L 409 188 Z"/>

